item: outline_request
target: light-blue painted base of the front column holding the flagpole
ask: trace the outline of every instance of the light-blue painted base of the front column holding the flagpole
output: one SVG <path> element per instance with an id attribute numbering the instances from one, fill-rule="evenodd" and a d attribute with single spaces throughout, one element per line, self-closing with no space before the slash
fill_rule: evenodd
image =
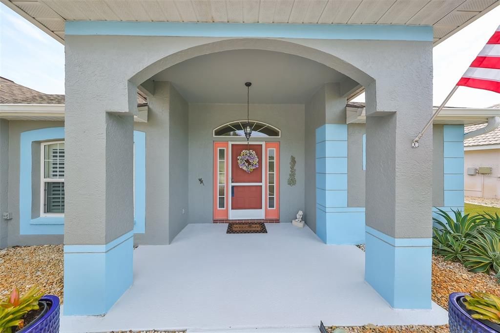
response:
<path id="1" fill-rule="evenodd" d="M 431 238 L 393 238 L 366 226 L 366 282 L 394 308 L 430 308 L 431 245 Z"/>

